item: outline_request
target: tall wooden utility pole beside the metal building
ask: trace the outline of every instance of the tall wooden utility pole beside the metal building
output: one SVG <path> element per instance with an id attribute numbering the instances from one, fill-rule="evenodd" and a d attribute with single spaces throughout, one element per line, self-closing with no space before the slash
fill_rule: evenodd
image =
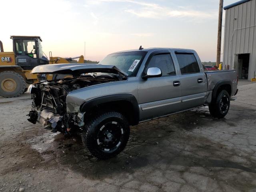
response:
<path id="1" fill-rule="evenodd" d="M 217 58 L 216 67 L 220 64 L 220 51 L 221 51 L 221 31 L 222 31 L 222 11 L 223 10 L 223 0 L 220 0 L 219 7 L 219 22 L 218 22 L 218 40 L 217 40 Z"/>

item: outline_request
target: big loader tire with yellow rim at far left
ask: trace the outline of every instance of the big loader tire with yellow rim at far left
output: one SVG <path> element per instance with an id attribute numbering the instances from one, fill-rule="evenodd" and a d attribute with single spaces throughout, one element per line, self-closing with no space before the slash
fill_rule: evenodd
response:
<path id="1" fill-rule="evenodd" d="M 0 73 L 0 96 L 5 98 L 18 97 L 25 91 L 24 78 L 13 71 Z"/>

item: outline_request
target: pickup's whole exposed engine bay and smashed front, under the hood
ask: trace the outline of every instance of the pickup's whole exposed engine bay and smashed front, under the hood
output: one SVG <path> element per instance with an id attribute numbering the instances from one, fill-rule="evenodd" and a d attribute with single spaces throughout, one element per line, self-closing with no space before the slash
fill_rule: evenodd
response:
<path id="1" fill-rule="evenodd" d="M 67 112 L 67 95 L 74 90 L 119 80 L 119 76 L 92 74 L 34 84 L 30 89 L 33 102 L 28 121 L 39 122 L 52 132 L 71 134 L 82 130 L 83 114 Z"/>

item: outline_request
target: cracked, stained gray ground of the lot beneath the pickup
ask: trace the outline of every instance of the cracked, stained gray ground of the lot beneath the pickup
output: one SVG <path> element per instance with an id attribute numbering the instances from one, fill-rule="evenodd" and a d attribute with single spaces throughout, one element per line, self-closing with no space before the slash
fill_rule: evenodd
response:
<path id="1" fill-rule="evenodd" d="M 30 95 L 0 98 L 0 191 L 256 192 L 256 84 L 239 89 L 226 118 L 203 107 L 144 122 L 102 161 L 29 123 Z"/>

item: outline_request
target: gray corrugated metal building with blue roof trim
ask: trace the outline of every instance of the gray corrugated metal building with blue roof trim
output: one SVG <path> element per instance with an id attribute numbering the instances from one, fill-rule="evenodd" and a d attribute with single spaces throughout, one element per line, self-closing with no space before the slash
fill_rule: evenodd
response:
<path id="1" fill-rule="evenodd" d="M 240 79 L 256 78 L 256 0 L 224 7 L 224 69 L 238 70 Z"/>

